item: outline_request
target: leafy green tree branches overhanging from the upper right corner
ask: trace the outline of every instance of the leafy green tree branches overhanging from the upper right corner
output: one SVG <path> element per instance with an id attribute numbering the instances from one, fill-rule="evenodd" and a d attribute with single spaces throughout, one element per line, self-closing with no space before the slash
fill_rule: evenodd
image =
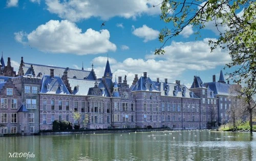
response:
<path id="1" fill-rule="evenodd" d="M 179 35 L 183 29 L 192 25 L 196 34 L 212 23 L 219 31 L 219 37 L 209 40 L 209 48 L 227 49 L 231 62 L 226 67 L 236 67 L 228 73 L 229 79 L 235 83 L 245 82 L 243 93 L 253 96 L 256 92 L 256 2 L 250 0 L 195 0 L 172 1 L 163 0 L 160 18 L 171 23 L 172 29 L 164 28 L 159 34 L 163 45 L 155 50 L 155 54 L 164 54 L 167 40 Z M 157 5 L 156 5 L 157 6 Z M 155 7 L 155 6 L 153 6 Z M 221 28 L 226 30 L 222 31 Z M 250 100 L 250 99 L 249 99 Z M 247 104 L 250 102 L 247 101 Z M 249 102 L 248 102 L 249 101 Z M 255 100 L 254 100 L 255 101 Z"/>

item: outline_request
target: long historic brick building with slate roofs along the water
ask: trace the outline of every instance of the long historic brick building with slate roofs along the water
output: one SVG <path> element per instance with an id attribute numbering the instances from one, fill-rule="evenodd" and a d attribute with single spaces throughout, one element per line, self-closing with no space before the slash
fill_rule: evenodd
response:
<path id="1" fill-rule="evenodd" d="M 73 111 L 80 112 L 82 120 L 88 114 L 86 128 L 90 129 L 201 129 L 216 126 L 215 121 L 221 122 L 224 109 L 228 108 L 228 93 L 222 93 L 222 86 L 227 92 L 229 85 L 222 79 L 203 83 L 195 77 L 188 89 L 179 80 L 153 81 L 144 72 L 140 78 L 135 75 L 130 87 L 126 76 L 112 81 L 109 60 L 99 79 L 93 65 L 91 71 L 75 70 L 26 63 L 23 57 L 17 75 L 10 58 L 1 73 L 1 133 L 33 134 L 52 129 L 54 120 L 75 123 Z"/>

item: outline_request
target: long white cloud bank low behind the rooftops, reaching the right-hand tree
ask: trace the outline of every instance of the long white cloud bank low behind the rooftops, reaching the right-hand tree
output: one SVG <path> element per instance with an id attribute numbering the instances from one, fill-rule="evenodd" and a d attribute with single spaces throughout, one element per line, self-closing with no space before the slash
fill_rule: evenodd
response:
<path id="1" fill-rule="evenodd" d="M 140 77 L 143 76 L 143 72 L 147 72 L 147 75 L 154 81 L 156 78 L 162 81 L 167 78 L 168 82 L 175 82 L 177 77 L 180 77 L 186 70 L 205 71 L 216 68 L 218 65 L 224 66 L 230 61 L 228 52 L 216 49 L 211 53 L 208 40 L 209 38 L 190 42 L 173 41 L 164 48 L 166 51 L 164 55 L 150 55 L 145 59 L 127 58 L 117 62 L 109 58 L 113 77 L 116 75 L 123 78 L 126 75 L 127 82 L 131 85 L 135 74 Z M 103 76 L 106 60 L 106 57 L 93 59 L 95 64 L 98 62 L 95 65 L 98 78 Z M 191 84 L 188 84 L 188 87 L 189 85 Z"/>

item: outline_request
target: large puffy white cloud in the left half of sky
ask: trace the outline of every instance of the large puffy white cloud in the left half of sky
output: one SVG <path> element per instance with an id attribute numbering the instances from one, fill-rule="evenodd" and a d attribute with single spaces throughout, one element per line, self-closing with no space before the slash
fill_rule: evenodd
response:
<path id="1" fill-rule="evenodd" d="M 109 41 L 108 30 L 87 29 L 82 33 L 81 29 L 68 20 L 50 20 L 29 34 L 14 34 L 18 42 L 29 44 L 43 52 L 86 55 L 116 51 L 116 45 Z"/>

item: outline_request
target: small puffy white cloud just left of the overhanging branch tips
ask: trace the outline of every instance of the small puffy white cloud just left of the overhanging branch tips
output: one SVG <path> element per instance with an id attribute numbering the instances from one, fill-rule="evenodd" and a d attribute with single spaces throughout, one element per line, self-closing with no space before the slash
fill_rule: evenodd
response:
<path id="1" fill-rule="evenodd" d="M 149 28 L 146 25 L 143 25 L 141 28 L 137 28 L 137 29 L 134 26 L 132 26 L 132 29 L 133 29 L 132 33 L 135 36 L 144 38 L 143 42 L 154 40 L 159 35 L 159 31 Z"/>

